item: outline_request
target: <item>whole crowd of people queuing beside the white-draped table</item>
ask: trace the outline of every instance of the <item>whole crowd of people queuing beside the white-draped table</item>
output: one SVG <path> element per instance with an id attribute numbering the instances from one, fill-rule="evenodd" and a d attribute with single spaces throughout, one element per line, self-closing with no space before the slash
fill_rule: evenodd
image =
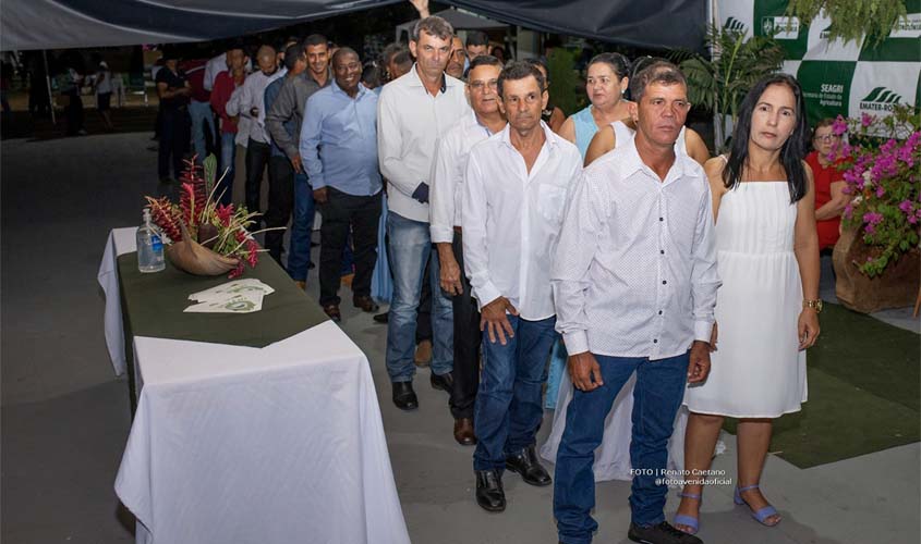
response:
<path id="1" fill-rule="evenodd" d="M 711 158 L 684 127 L 687 82 L 667 61 L 596 55 L 590 104 L 567 118 L 542 60 L 488 50 L 485 35 L 463 42 L 427 16 L 408 48 L 373 62 L 320 35 L 252 57 L 231 44 L 196 83 L 168 53 L 159 174 L 178 175 L 189 141 L 204 154 L 187 131 L 217 116 L 229 169 L 219 191 L 229 201 L 245 153 L 245 203 L 258 211 L 268 170 L 265 226 L 291 223 L 287 261 L 282 231 L 265 247 L 302 287 L 320 212 L 323 310 L 341 319 L 343 261 L 356 308 L 389 302 L 375 320 L 387 323 L 402 410 L 419 408 L 417 345 L 431 342 L 429 383 L 449 394 L 456 441 L 475 446 L 484 509 L 506 508 L 510 470 L 554 485 L 560 542 L 591 542 L 593 463 L 598 448 L 616 449 L 632 477 L 628 536 L 699 543 L 704 482 L 691 474 L 707 473 L 730 417 L 736 503 L 777 524 L 760 487 L 772 421 L 807 400 L 820 248 L 834 245 L 846 203 L 831 123 L 807 158 L 800 86 L 766 75 L 729 152 Z M 553 477 L 536 450 L 545 405 L 557 410 L 542 448 Z M 683 459 L 669 459 L 669 442 Z M 663 480 L 675 465 L 671 524 Z"/>

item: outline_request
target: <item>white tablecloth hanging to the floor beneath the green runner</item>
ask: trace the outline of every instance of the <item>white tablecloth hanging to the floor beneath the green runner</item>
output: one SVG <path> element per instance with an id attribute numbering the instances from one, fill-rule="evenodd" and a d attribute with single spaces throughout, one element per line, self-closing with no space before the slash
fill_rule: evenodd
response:
<path id="1" fill-rule="evenodd" d="M 134 354 L 116 492 L 138 542 L 409 542 L 367 359 L 335 323 L 262 349 L 136 336 Z"/>

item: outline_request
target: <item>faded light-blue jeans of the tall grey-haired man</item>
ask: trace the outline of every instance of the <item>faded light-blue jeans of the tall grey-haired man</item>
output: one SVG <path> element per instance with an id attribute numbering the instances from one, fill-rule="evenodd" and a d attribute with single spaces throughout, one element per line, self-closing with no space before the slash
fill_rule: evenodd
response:
<path id="1" fill-rule="evenodd" d="M 410 382 L 415 374 L 415 318 L 422 292 L 422 274 L 429 262 L 432 279 L 432 371 L 446 374 L 453 369 L 455 325 L 451 300 L 439 287 L 438 256 L 433 255 L 428 223 L 387 215 L 393 299 L 387 323 L 387 373 L 392 382 Z"/>

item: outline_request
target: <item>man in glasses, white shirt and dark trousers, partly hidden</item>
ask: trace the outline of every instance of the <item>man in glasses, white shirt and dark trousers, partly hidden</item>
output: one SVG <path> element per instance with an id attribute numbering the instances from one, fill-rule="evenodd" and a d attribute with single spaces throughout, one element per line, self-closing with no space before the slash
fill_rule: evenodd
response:
<path id="1" fill-rule="evenodd" d="M 473 400 L 480 384 L 480 310 L 470 294 L 463 274 L 461 205 L 463 175 L 470 148 L 506 126 L 499 110 L 496 85 L 502 64 L 492 55 L 482 55 L 470 64 L 466 96 L 473 113 L 463 118 L 438 140 L 432 170 L 432 242 L 438 250 L 441 289 L 452 297 L 455 322 L 455 384 L 451 415 L 455 440 L 462 446 L 476 443 L 473 433 Z"/>

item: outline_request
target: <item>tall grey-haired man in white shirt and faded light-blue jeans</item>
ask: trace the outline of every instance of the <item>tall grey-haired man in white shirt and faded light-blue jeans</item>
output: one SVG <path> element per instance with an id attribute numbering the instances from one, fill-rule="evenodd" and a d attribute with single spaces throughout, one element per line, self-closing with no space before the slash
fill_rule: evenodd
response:
<path id="1" fill-rule="evenodd" d="M 387 233 L 393 297 L 387 329 L 387 372 L 397 408 L 413 410 L 419 399 L 415 373 L 416 313 L 422 275 L 431 261 L 434 354 L 431 383 L 450 392 L 453 386 L 451 301 L 437 288 L 438 259 L 432 255 L 428 232 L 428 188 L 435 143 L 469 114 L 463 82 L 445 74 L 455 29 L 441 17 L 416 22 L 410 50 L 412 70 L 390 82 L 377 103 L 377 148 L 380 172 L 387 178 Z"/>

